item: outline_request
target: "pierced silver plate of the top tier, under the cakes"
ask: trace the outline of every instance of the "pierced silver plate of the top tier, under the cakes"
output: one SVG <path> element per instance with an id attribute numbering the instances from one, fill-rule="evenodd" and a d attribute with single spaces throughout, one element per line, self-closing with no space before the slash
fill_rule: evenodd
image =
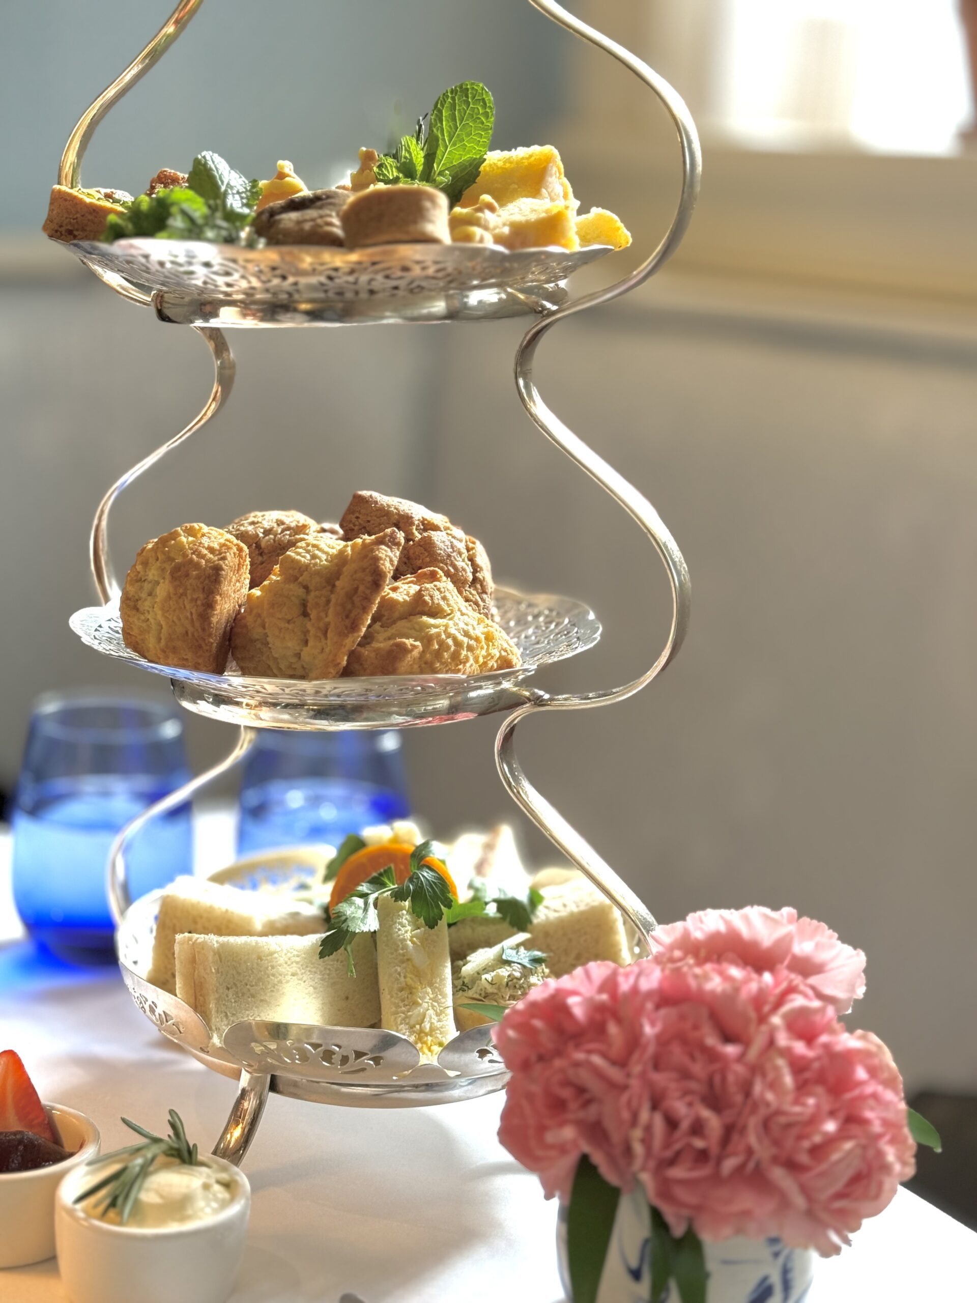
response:
<path id="1" fill-rule="evenodd" d="M 546 315 L 578 267 L 614 250 L 403 244 L 240 249 L 197 240 L 77 241 L 87 267 L 182 326 L 336 326 Z"/>

